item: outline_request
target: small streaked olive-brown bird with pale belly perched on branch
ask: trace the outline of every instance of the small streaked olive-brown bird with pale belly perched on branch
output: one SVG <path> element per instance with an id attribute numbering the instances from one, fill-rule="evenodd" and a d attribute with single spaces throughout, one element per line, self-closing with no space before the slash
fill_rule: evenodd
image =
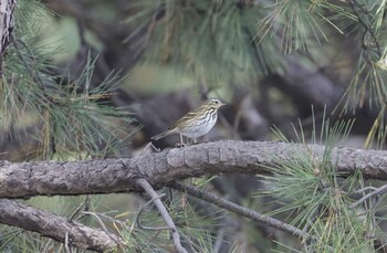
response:
<path id="1" fill-rule="evenodd" d="M 196 110 L 189 112 L 182 116 L 172 127 L 169 127 L 168 130 L 151 137 L 151 139 L 158 140 L 168 135 L 179 134 L 181 145 L 184 145 L 182 136 L 191 138 L 194 143 L 196 143 L 198 137 L 206 135 L 212 129 L 218 119 L 218 109 L 222 105 L 224 105 L 224 103 L 221 101 L 210 98 Z"/>

